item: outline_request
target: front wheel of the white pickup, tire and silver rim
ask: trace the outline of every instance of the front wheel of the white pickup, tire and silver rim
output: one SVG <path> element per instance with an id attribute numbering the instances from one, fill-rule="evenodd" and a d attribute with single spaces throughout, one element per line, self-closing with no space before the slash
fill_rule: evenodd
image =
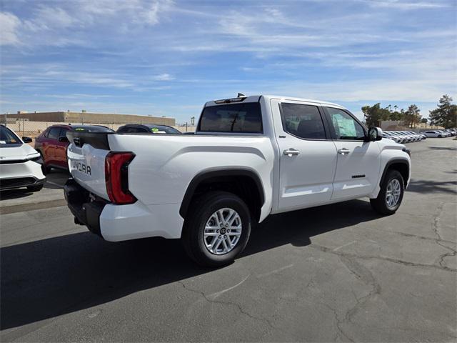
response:
<path id="1" fill-rule="evenodd" d="M 404 192 L 405 186 L 401 174 L 396 170 L 388 170 L 378 197 L 370 199 L 371 207 L 380 214 L 394 214 L 400 207 Z"/>

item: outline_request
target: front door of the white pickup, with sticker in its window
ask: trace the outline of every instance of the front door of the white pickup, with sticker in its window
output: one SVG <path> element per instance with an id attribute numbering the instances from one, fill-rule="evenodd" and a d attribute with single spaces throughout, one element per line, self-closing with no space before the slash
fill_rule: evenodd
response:
<path id="1" fill-rule="evenodd" d="M 365 197 L 379 182 L 381 148 L 378 141 L 365 141 L 366 132 L 348 111 L 324 106 L 338 151 L 332 200 Z"/>

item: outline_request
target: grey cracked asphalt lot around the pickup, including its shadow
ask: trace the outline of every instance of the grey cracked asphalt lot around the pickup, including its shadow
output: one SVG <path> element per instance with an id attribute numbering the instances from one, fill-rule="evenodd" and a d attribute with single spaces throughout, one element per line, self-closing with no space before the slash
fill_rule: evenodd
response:
<path id="1" fill-rule="evenodd" d="M 221 269 L 2 198 L 1 341 L 455 342 L 457 141 L 408 148 L 395 215 L 362 199 L 272 216 Z"/>

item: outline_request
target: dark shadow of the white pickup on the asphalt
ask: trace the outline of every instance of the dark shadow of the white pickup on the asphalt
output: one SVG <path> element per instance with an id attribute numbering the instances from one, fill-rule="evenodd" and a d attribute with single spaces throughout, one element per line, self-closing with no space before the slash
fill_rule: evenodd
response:
<path id="1" fill-rule="evenodd" d="M 243 257 L 284 244 L 305 247 L 313 236 L 377 218 L 362 200 L 277 214 L 253 229 Z M 0 257 L 2 330 L 214 271 L 191 262 L 179 240 L 110 243 L 89 232 L 4 247 Z"/>

